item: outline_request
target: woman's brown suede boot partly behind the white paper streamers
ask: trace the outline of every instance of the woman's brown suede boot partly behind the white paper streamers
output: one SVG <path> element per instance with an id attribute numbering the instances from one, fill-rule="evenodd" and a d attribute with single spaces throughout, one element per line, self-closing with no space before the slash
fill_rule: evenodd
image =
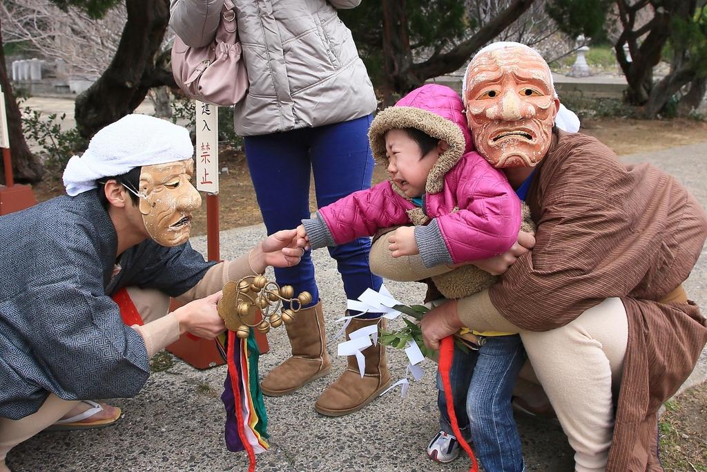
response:
<path id="1" fill-rule="evenodd" d="M 379 320 L 380 318 L 352 319 L 349 326 L 346 327 L 346 338 L 349 338 L 350 333 L 378 323 Z M 385 321 L 385 319 L 381 321 L 382 325 L 379 330 L 385 329 Z M 390 384 L 390 372 L 388 372 L 388 366 L 385 363 L 385 346 L 378 343 L 361 352 L 366 357 L 366 372 L 363 379 L 361 379 L 361 373 L 358 370 L 356 356 L 349 356 L 347 369 L 334 384 L 322 393 L 315 403 L 315 409 L 322 415 L 342 416 L 361 410 L 375 400 Z"/>

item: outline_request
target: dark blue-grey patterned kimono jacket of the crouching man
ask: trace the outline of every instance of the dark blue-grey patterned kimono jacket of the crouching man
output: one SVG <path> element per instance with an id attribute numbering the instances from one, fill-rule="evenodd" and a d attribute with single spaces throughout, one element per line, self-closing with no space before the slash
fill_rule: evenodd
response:
<path id="1" fill-rule="evenodd" d="M 129 397 L 145 384 L 144 341 L 110 294 L 138 286 L 176 297 L 211 263 L 189 243 L 148 240 L 118 260 L 116 250 L 95 190 L 0 217 L 0 416 L 35 413 L 49 392 L 65 400 Z"/>

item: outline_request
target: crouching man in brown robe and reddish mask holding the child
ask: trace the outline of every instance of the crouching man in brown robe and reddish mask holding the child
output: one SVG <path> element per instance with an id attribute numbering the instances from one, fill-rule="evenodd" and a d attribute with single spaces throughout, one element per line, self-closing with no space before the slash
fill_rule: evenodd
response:
<path id="1" fill-rule="evenodd" d="M 519 330 L 576 471 L 662 470 L 658 408 L 707 340 L 681 285 L 707 237 L 703 209 L 670 175 L 624 166 L 596 139 L 557 129 L 567 116 L 530 47 L 481 50 L 462 93 L 477 151 L 513 188 L 527 185 L 537 231 L 534 247 L 521 234 L 522 244 L 477 264 L 503 274 L 490 289 L 423 318 L 426 344 L 438 348 L 462 326 Z M 425 277 L 396 266 L 384 240 L 371 251 L 375 272 Z"/>

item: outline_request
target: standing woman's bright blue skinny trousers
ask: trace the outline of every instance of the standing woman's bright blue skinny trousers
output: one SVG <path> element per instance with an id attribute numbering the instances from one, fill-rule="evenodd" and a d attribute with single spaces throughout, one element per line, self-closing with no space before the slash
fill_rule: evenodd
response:
<path id="1" fill-rule="evenodd" d="M 368 115 L 333 125 L 245 137 L 245 156 L 268 234 L 296 228 L 301 219 L 310 217 L 310 172 L 314 174 L 317 207 L 370 187 L 371 120 Z M 368 288 L 380 289 L 381 278 L 368 268 L 369 251 L 370 238 L 329 248 L 349 299 L 357 299 Z M 296 294 L 310 292 L 312 304 L 319 301 L 310 251 L 298 265 L 276 268 L 275 277 L 281 285 L 292 285 Z"/>

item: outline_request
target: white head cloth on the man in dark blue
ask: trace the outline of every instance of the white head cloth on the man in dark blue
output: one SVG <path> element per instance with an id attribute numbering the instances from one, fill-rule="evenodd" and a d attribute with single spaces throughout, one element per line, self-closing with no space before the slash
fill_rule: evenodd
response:
<path id="1" fill-rule="evenodd" d="M 74 197 L 96 188 L 103 177 L 133 168 L 184 161 L 194 154 L 184 127 L 147 115 L 127 115 L 91 138 L 83 156 L 73 156 L 64 169 L 66 193 Z"/>

